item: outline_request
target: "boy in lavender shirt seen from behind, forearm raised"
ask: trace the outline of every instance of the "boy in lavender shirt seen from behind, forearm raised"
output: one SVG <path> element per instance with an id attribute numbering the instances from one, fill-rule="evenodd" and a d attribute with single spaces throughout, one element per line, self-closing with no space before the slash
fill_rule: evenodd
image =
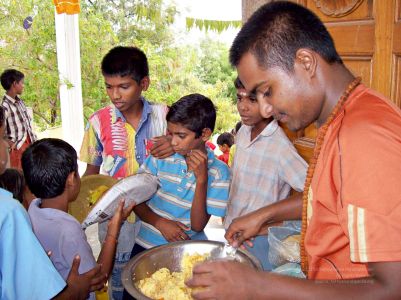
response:
<path id="1" fill-rule="evenodd" d="M 51 251 L 50 259 L 56 269 L 66 279 L 76 255 L 81 257 L 80 273 L 94 268 L 96 261 L 85 233 L 68 214 L 68 203 L 76 199 L 81 185 L 74 148 L 60 139 L 36 141 L 23 153 L 22 167 L 29 189 L 39 197 L 28 209 L 32 227 L 43 248 Z M 121 222 L 133 208 L 130 206 L 123 212 L 123 205 L 122 201 L 108 222 L 98 258 L 107 276 L 113 266 Z M 92 293 L 90 298 L 95 295 Z"/>

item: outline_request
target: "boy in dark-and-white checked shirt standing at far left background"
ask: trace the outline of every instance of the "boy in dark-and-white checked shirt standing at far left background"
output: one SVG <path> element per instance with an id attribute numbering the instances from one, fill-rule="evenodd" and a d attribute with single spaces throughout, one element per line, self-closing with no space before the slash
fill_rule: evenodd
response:
<path id="1" fill-rule="evenodd" d="M 24 91 L 24 74 L 15 69 L 7 69 L 1 74 L 0 81 L 6 90 L 1 106 L 6 117 L 10 165 L 12 168 L 21 169 L 22 153 L 37 139 L 32 129 L 32 118 L 20 98 Z"/>

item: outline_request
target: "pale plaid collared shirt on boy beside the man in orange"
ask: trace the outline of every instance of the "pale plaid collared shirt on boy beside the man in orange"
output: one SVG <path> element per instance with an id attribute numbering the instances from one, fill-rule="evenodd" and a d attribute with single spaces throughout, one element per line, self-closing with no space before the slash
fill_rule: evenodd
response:
<path id="1" fill-rule="evenodd" d="M 307 164 L 277 121 L 252 141 L 251 130 L 243 125 L 236 135 L 225 228 L 234 218 L 287 198 L 291 188 L 304 187 Z"/>

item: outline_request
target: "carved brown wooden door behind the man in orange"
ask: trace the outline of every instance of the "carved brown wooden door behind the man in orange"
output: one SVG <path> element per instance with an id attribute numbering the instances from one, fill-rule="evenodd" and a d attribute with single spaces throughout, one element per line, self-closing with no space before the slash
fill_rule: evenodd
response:
<path id="1" fill-rule="evenodd" d="M 266 0 L 243 0 L 243 19 Z M 327 26 L 347 67 L 401 107 L 401 0 L 297 0 Z M 317 129 L 289 134 L 309 161 Z"/>

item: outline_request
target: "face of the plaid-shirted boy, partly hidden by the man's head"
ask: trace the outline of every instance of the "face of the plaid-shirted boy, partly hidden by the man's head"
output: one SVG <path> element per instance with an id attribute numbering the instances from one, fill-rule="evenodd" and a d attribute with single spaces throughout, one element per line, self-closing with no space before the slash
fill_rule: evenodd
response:
<path id="1" fill-rule="evenodd" d="M 245 89 L 237 89 L 237 109 L 245 125 L 255 126 L 264 120 L 258 101 L 250 97 Z"/>

